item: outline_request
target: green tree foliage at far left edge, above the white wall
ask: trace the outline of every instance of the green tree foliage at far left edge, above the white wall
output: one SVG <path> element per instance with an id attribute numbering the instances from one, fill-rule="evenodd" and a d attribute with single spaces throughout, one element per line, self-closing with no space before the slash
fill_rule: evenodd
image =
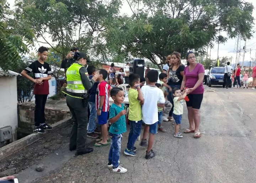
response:
<path id="1" fill-rule="evenodd" d="M 0 0 L 0 67 L 4 70 L 14 70 L 20 67 L 21 56 L 29 52 L 33 46 L 34 34 L 30 24 L 19 14 L 10 10 L 6 0 Z"/>

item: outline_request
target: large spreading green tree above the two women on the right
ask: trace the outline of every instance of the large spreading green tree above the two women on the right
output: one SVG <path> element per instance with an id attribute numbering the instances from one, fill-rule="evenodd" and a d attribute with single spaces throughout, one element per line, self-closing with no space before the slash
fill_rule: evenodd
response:
<path id="1" fill-rule="evenodd" d="M 112 52 L 146 58 L 161 69 L 173 51 L 203 55 L 207 46 L 250 38 L 253 6 L 242 0 L 127 0 L 132 16 L 118 16 L 103 37 Z M 227 37 L 219 35 L 220 31 Z M 159 62 L 160 61 L 160 62 Z"/>

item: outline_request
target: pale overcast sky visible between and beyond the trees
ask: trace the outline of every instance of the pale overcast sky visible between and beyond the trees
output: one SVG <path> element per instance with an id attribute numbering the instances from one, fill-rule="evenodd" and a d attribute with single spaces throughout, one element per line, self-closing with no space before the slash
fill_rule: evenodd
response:
<path id="1" fill-rule="evenodd" d="M 245 0 L 245 1 L 246 2 L 251 2 L 254 5 L 255 9 L 254 9 L 252 15 L 256 19 L 256 1 L 255 0 Z M 7 2 L 9 2 L 10 6 L 13 7 L 14 3 L 15 3 L 15 0 L 7 0 Z M 123 0 L 123 6 L 121 8 L 121 12 L 125 13 L 127 15 L 132 14 L 132 11 L 130 10 L 130 7 L 129 7 L 126 0 Z M 256 20 L 254 20 L 254 22 L 255 22 L 255 25 L 256 25 Z M 255 28 L 253 28 L 253 30 L 256 30 L 256 26 L 255 26 Z M 225 36 L 224 32 L 222 32 L 221 34 L 223 36 Z M 43 41 L 40 38 L 38 40 Z M 50 39 L 47 40 L 47 41 L 52 42 Z M 240 43 L 241 43 L 240 45 L 241 45 L 241 49 L 242 49 L 244 44 L 245 44 L 245 41 L 241 40 Z M 235 58 L 236 58 L 236 53 L 234 53 L 234 50 L 236 50 L 235 44 L 236 44 L 235 39 L 228 39 L 225 44 L 220 44 L 219 45 L 219 58 L 221 59 L 221 57 L 224 57 L 224 56 L 233 57 L 232 63 L 234 63 Z M 36 44 L 36 46 L 39 46 L 39 44 Z M 48 45 L 40 43 L 40 46 L 48 46 Z M 251 54 L 250 54 L 250 49 L 251 49 Z M 256 32 L 253 34 L 253 37 L 250 40 L 247 40 L 246 50 L 247 50 L 247 52 L 245 53 L 245 62 L 250 61 L 250 58 L 256 59 Z M 173 51 L 175 51 L 175 50 L 173 50 Z M 218 44 L 215 44 L 214 48 L 211 49 L 211 50 L 209 48 L 208 49 L 208 54 L 211 55 L 210 56 L 211 59 L 217 59 Z M 251 55 L 251 57 L 250 57 L 250 55 Z M 240 60 L 239 61 L 240 62 L 242 61 L 242 53 L 240 55 Z"/>

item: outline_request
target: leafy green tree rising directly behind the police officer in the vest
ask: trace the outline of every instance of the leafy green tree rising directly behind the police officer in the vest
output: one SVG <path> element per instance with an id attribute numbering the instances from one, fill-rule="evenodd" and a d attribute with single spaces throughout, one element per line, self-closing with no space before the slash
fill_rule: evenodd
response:
<path id="1" fill-rule="evenodd" d="M 107 51 L 100 37 L 105 24 L 112 22 L 121 1 L 98 0 L 17 0 L 16 13 L 24 13 L 39 41 L 49 45 L 64 59 L 70 48 L 78 46 L 92 58 L 105 61 Z M 52 40 L 50 41 L 49 38 Z"/>

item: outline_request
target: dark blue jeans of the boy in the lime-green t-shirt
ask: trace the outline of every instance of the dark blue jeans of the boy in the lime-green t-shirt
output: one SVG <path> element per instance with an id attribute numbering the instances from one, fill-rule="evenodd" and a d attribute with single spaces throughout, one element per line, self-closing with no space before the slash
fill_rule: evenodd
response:
<path id="1" fill-rule="evenodd" d="M 132 150 L 136 140 L 138 139 L 141 129 L 142 129 L 142 120 L 140 121 L 131 121 L 130 123 L 130 133 L 128 136 L 127 149 Z"/>

